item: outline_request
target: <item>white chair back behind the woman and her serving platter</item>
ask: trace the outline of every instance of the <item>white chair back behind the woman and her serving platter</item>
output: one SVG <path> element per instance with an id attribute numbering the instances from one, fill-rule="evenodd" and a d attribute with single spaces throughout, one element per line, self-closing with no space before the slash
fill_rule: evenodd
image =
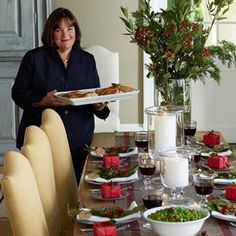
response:
<path id="1" fill-rule="evenodd" d="M 93 45 L 84 48 L 96 61 L 101 87 L 109 87 L 111 83 L 119 83 L 119 53 Z M 104 121 L 95 117 L 95 132 L 114 132 L 119 130 L 119 102 L 109 103 L 110 115 Z"/>

